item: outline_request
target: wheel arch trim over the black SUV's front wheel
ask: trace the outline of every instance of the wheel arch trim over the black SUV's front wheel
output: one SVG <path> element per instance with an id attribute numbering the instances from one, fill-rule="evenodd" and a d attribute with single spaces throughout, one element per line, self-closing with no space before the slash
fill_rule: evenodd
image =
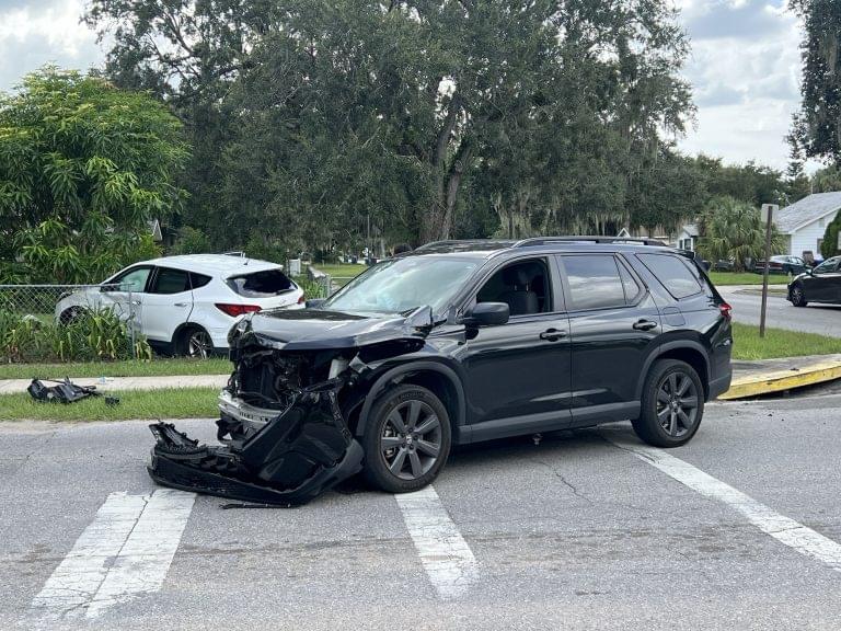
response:
<path id="1" fill-rule="evenodd" d="M 357 408 L 358 415 L 355 414 L 357 418 L 355 418 L 354 427 L 356 436 L 365 434 L 365 421 L 368 418 L 368 414 L 370 414 L 377 398 L 389 386 L 398 383 L 413 383 L 434 392 L 450 414 L 453 440 L 458 441 L 457 437 L 460 434 L 460 428 L 464 425 L 465 418 L 464 389 L 456 371 L 438 362 L 413 362 L 395 366 L 378 377 L 368 389 L 361 406 Z"/>

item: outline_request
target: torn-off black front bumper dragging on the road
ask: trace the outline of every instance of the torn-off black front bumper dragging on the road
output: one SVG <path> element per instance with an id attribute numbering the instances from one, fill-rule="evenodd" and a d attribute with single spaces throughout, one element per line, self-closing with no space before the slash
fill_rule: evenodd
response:
<path id="1" fill-rule="evenodd" d="M 338 406 L 334 379 L 295 395 L 260 431 L 208 446 L 154 423 L 148 467 L 163 485 L 261 504 L 304 504 L 362 468 L 362 447 Z M 220 437 L 226 428 L 220 425 Z M 230 433 L 234 436 L 234 433 Z"/>

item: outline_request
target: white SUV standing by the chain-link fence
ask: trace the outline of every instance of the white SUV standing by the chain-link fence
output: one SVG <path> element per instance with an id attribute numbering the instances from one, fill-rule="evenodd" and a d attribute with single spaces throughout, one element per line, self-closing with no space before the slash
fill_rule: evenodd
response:
<path id="1" fill-rule="evenodd" d="M 85 309 L 102 307 L 131 317 L 158 351 L 206 357 L 228 348 L 237 318 L 302 308 L 303 291 L 275 263 L 226 254 L 165 256 L 66 296 L 56 306 L 56 318 L 66 324 Z"/>

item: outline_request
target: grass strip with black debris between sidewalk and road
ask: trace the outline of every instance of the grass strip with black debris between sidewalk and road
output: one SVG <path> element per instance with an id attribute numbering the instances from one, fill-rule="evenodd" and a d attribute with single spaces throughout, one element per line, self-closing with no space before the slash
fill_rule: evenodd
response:
<path id="1" fill-rule="evenodd" d="M 0 421 L 126 421 L 158 418 L 216 418 L 216 388 L 131 390 L 108 392 L 119 404 L 108 406 L 102 398 L 76 403 L 42 403 L 28 393 L 0 395 Z M 151 439 L 151 435 L 150 435 Z"/>

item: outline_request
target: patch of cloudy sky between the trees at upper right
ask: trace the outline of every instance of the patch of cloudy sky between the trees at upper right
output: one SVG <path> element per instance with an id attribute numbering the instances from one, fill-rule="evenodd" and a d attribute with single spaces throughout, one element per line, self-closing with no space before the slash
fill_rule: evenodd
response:
<path id="1" fill-rule="evenodd" d="M 681 148 L 785 169 L 800 100 L 797 18 L 780 0 L 681 0 L 680 8 L 692 44 L 684 74 L 698 105 Z"/>

